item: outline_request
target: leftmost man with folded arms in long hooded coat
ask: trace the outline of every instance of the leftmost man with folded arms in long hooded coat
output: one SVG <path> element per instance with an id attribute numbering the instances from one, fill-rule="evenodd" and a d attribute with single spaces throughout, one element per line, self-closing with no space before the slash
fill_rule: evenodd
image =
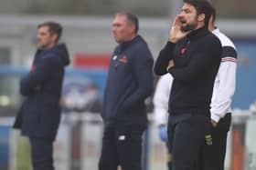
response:
<path id="1" fill-rule="evenodd" d="M 59 44 L 62 27 L 47 22 L 37 27 L 37 53 L 30 72 L 20 81 L 26 96 L 14 127 L 29 137 L 34 170 L 53 170 L 53 142 L 60 121 L 64 68 L 69 65 L 66 45 Z"/>

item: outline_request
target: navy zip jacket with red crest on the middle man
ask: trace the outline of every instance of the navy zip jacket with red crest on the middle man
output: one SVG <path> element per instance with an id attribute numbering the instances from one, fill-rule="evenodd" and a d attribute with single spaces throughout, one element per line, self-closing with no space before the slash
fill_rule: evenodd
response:
<path id="1" fill-rule="evenodd" d="M 144 99 L 154 90 L 153 63 L 140 35 L 115 48 L 101 111 L 104 125 L 146 126 Z"/>

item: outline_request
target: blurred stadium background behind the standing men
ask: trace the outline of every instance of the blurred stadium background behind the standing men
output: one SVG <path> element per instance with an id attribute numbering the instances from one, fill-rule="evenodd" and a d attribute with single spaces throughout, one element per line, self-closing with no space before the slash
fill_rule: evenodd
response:
<path id="1" fill-rule="evenodd" d="M 232 103 L 226 170 L 256 169 L 256 1 L 215 0 L 217 25 L 238 50 L 237 89 Z M 101 99 L 112 50 L 112 18 L 130 11 L 140 20 L 156 58 L 167 41 L 181 0 L 0 0 L 0 170 L 29 170 L 26 137 L 11 125 L 22 102 L 19 79 L 36 51 L 37 25 L 56 21 L 72 64 L 63 85 L 62 122 L 54 145 L 57 170 L 94 170 L 101 152 Z M 165 144 L 152 119 L 144 134 L 144 170 L 165 169 Z"/>

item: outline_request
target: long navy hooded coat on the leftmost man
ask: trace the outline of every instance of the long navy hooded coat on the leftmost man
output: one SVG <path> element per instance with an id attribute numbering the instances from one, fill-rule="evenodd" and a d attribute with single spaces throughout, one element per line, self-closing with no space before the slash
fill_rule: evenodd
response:
<path id="1" fill-rule="evenodd" d="M 20 93 L 26 96 L 26 100 L 16 116 L 15 126 L 21 127 L 22 135 L 55 139 L 66 65 L 69 65 L 66 45 L 37 50 L 31 71 L 20 81 Z"/>

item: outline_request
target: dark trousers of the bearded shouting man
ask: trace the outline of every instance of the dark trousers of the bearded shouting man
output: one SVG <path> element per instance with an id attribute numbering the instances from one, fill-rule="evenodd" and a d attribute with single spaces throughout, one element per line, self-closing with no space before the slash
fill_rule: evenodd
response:
<path id="1" fill-rule="evenodd" d="M 198 169 L 198 158 L 209 128 L 207 115 L 169 115 L 167 133 L 173 170 Z"/>

